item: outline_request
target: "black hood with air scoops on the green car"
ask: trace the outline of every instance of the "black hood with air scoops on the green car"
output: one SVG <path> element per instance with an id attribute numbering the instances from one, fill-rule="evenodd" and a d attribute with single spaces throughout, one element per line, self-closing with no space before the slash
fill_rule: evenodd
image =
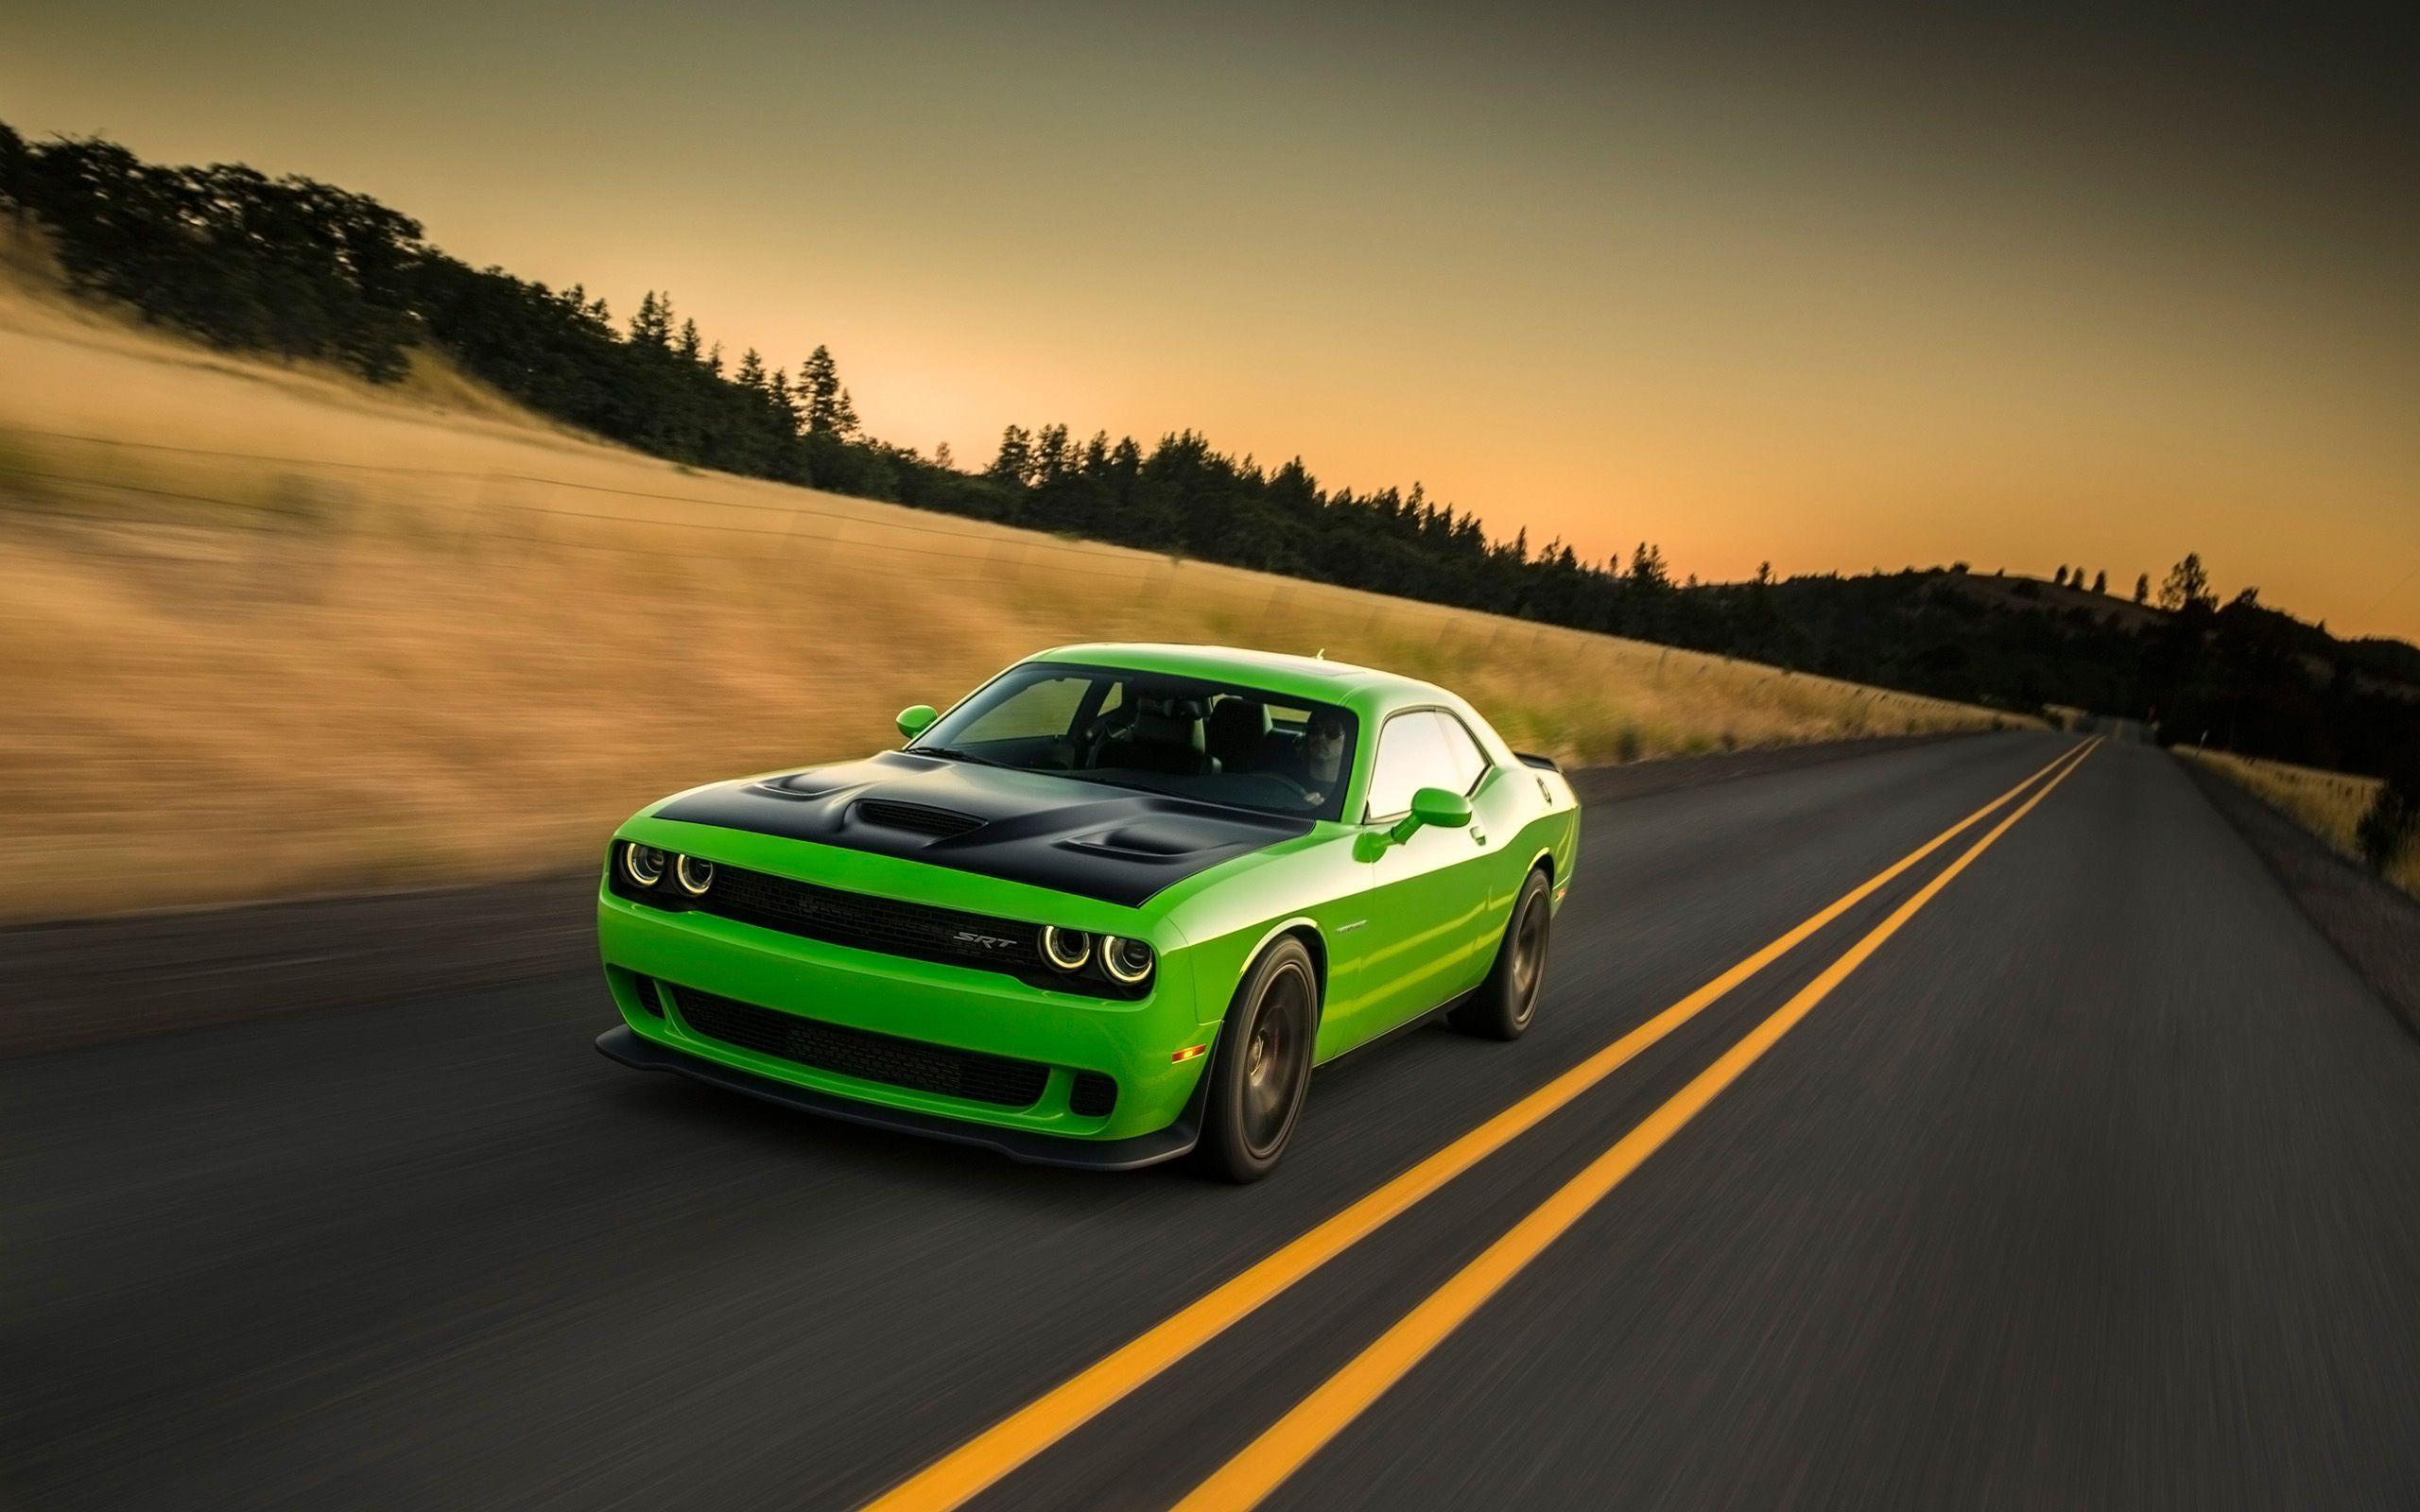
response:
<path id="1" fill-rule="evenodd" d="M 656 818 L 956 866 L 1125 907 L 1312 832 L 1309 820 L 903 750 L 699 789 Z"/>

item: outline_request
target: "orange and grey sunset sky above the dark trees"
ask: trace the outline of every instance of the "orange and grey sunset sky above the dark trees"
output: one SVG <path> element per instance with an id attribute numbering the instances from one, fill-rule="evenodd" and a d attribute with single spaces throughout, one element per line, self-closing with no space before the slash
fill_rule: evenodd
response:
<path id="1" fill-rule="evenodd" d="M 1667 7 L 1679 10 L 1679 7 Z M 36 0 L 0 121 L 825 341 L 866 428 L 1200 428 L 1602 559 L 2420 639 L 2420 85 L 2297 10 Z M 2190 22 L 2183 17 L 2193 17 Z"/>

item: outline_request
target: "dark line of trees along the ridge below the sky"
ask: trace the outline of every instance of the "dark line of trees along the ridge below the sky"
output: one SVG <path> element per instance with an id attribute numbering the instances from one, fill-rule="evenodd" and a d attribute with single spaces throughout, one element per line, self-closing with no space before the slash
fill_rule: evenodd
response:
<path id="1" fill-rule="evenodd" d="M 2067 564 L 2052 585 L 2086 602 L 2045 598 L 2033 578 L 1977 593 L 1963 564 L 1675 581 L 1650 539 L 1585 561 L 1563 539 L 1496 539 L 1418 484 L 1329 489 L 1300 457 L 1268 467 L 1195 431 L 1145 448 L 1007 426 L 990 462 L 961 469 L 946 448 L 927 457 L 866 435 L 823 346 L 794 363 L 731 358 L 653 290 L 617 324 L 581 285 L 472 269 L 409 215 L 315 179 L 152 165 L 97 138 L 29 143 L 0 123 L 0 210 L 41 227 L 73 290 L 213 346 L 370 382 L 399 380 L 428 348 L 542 416 L 695 467 L 1972 704 L 2156 719 L 2173 740 L 2316 767 L 2403 777 L 2420 762 L 2420 651 L 2338 641 L 2258 590 L 2222 605 L 2197 556 L 2166 576 L 2159 614 L 2110 614 L 2091 602 L 2108 595 L 2105 569 L 2086 588 Z M 2151 598 L 2144 573 L 2132 602 Z M 2420 777 L 2405 784 L 2420 791 Z"/>

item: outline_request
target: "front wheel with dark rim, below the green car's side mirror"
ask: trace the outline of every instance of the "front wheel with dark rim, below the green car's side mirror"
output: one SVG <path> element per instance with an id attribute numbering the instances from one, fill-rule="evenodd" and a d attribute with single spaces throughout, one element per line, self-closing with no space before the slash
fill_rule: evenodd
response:
<path id="1" fill-rule="evenodd" d="M 1244 1183 L 1278 1168 L 1312 1086 L 1316 1028 L 1319 973 L 1302 941 L 1285 936 L 1244 977 L 1210 1055 L 1203 1137 L 1193 1147 L 1200 1173 Z"/>

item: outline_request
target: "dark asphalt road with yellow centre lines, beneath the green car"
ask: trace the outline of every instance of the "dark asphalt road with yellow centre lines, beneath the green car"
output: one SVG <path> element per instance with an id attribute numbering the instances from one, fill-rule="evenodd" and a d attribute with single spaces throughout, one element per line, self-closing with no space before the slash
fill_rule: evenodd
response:
<path id="1" fill-rule="evenodd" d="M 0 1505 L 2420 1505 L 2420 1045 L 2151 748 L 1600 803 L 1529 1038 L 1321 1069 L 1254 1188 L 610 1014 L 0 1064 Z"/>

